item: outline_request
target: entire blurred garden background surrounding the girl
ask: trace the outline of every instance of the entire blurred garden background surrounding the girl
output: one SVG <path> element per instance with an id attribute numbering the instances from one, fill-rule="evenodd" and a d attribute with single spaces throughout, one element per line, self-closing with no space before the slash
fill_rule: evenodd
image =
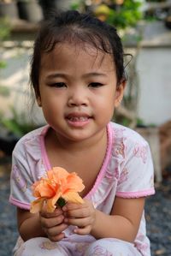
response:
<path id="1" fill-rule="evenodd" d="M 32 105 L 32 45 L 51 9 L 78 9 L 115 26 L 121 36 L 127 91 L 113 119 L 150 143 L 156 195 L 147 200 L 152 255 L 171 255 L 171 0 L 0 0 L 0 255 L 12 255 L 17 229 L 8 204 L 11 152 L 33 128 L 44 125 Z M 130 62 L 131 61 L 131 62 Z"/>

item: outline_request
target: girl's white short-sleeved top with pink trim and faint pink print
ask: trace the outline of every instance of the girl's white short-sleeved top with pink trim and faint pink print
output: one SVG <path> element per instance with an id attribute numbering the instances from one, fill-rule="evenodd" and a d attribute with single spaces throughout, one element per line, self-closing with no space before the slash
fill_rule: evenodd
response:
<path id="1" fill-rule="evenodd" d="M 50 170 L 44 135 L 49 126 L 38 128 L 19 140 L 13 152 L 9 202 L 30 209 L 31 186 Z M 148 143 L 135 131 L 114 122 L 107 126 L 108 146 L 103 165 L 91 191 L 85 196 L 100 211 L 110 213 L 115 196 L 139 198 L 155 193 L 154 171 Z M 150 255 L 144 214 L 134 241 L 142 255 Z"/>

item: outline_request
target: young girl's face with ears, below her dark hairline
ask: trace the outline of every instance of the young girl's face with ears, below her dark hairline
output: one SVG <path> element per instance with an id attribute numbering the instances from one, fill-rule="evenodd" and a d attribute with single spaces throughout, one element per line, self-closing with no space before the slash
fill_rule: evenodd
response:
<path id="1" fill-rule="evenodd" d="M 90 45 L 58 44 L 42 56 L 37 101 L 58 138 L 80 141 L 103 133 L 123 89 L 124 83 L 116 87 L 112 57 Z"/>

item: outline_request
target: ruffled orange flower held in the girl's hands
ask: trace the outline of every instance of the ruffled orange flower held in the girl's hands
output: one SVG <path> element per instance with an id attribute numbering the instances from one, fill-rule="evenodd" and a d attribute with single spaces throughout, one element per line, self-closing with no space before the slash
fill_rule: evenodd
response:
<path id="1" fill-rule="evenodd" d="M 54 167 L 47 171 L 46 177 L 42 177 L 32 185 L 32 195 L 37 199 L 32 201 L 30 212 L 41 211 L 44 202 L 46 210 L 52 212 L 56 209 L 58 199 L 83 204 L 84 201 L 78 192 L 84 188 L 82 180 L 75 172 L 68 173 L 61 167 Z"/>

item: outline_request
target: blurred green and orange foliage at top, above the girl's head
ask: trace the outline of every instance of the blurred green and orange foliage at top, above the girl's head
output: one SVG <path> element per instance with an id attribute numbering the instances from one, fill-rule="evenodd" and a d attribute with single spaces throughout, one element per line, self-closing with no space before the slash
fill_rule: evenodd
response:
<path id="1" fill-rule="evenodd" d="M 88 5 L 86 3 L 89 3 Z M 140 9 L 142 1 L 74 1 L 72 9 L 81 11 L 91 11 L 102 21 L 107 21 L 110 25 L 117 28 L 134 27 L 137 22 L 143 18 L 143 12 Z"/>

